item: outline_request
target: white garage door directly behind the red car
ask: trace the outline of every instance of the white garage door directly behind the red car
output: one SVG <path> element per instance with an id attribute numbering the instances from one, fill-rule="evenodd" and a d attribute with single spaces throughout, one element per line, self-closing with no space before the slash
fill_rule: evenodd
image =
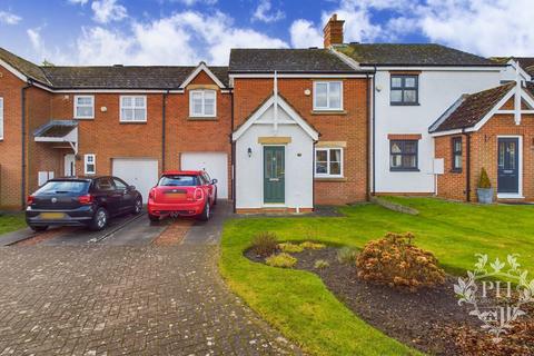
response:
<path id="1" fill-rule="evenodd" d="M 228 155 L 224 152 L 184 152 L 181 169 L 200 170 L 217 179 L 217 197 L 228 199 Z"/>

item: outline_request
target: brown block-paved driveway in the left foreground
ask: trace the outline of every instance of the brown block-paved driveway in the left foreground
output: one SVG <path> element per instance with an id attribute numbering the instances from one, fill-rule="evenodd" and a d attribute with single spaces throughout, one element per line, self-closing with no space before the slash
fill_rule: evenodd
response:
<path id="1" fill-rule="evenodd" d="M 0 248 L 0 355 L 300 354 L 218 275 L 229 208 L 178 246 Z"/>

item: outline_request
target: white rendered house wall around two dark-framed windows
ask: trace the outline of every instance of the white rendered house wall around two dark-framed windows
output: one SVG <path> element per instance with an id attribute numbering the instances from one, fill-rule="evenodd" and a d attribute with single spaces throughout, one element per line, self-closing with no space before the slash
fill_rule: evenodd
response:
<path id="1" fill-rule="evenodd" d="M 389 71 L 376 73 L 375 90 L 375 191 L 434 192 L 434 140 L 428 127 L 463 93 L 497 87 L 498 71 L 424 70 L 419 75 L 419 105 L 389 103 Z M 390 134 L 421 134 L 418 145 L 419 171 L 389 171 Z"/>

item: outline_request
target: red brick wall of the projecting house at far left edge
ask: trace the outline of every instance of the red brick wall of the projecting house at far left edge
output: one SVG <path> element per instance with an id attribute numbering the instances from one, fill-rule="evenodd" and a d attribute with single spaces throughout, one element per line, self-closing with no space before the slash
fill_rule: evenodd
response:
<path id="1" fill-rule="evenodd" d="M 21 88 L 24 82 L 0 67 L 3 140 L 0 140 L 0 209 L 21 207 Z"/>

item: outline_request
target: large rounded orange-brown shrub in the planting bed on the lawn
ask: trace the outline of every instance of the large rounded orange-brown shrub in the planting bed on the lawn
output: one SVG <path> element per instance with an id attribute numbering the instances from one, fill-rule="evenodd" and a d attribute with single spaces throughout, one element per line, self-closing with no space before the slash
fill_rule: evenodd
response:
<path id="1" fill-rule="evenodd" d="M 428 251 L 412 245 L 414 235 L 388 233 L 365 245 L 356 259 L 358 277 L 389 286 L 433 287 L 445 283 L 445 273 Z"/>

